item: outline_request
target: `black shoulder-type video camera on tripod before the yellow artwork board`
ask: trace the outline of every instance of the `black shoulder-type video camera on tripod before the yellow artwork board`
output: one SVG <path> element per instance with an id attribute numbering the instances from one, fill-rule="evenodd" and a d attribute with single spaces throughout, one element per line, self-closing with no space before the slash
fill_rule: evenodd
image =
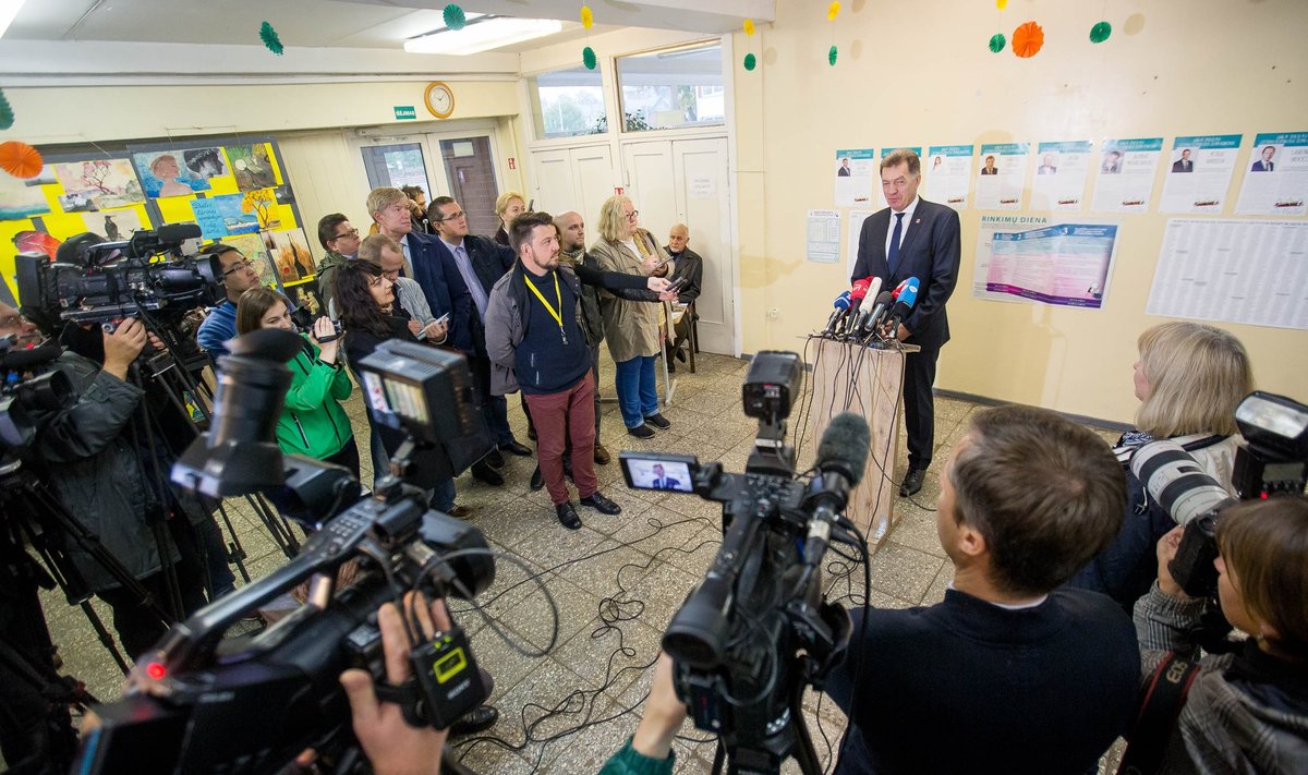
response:
<path id="1" fill-rule="evenodd" d="M 20 253 L 22 313 L 46 330 L 65 322 L 105 325 L 143 310 L 178 321 L 224 297 L 218 258 L 195 255 L 199 238 L 200 226 L 170 224 L 122 242 L 80 234 L 60 246 L 54 262 L 43 253 Z"/>

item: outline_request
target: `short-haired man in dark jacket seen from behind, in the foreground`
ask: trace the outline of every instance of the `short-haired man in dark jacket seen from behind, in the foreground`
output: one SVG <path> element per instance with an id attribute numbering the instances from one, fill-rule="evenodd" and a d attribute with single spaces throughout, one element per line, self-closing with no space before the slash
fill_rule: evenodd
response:
<path id="1" fill-rule="evenodd" d="M 1126 732 L 1139 652 L 1117 604 L 1059 586 L 1112 542 L 1125 496 L 1091 431 L 1032 407 L 976 412 L 940 475 L 944 601 L 854 611 L 827 679 L 850 717 L 836 772 L 1093 770 Z"/>

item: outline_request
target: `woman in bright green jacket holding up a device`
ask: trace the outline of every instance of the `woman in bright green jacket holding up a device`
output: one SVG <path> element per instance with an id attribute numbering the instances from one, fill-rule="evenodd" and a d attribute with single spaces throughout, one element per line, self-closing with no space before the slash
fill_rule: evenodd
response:
<path id="1" fill-rule="evenodd" d="M 251 288 L 241 295 L 237 304 L 237 333 L 259 329 L 296 330 L 286 297 L 272 288 Z M 352 385 L 341 368 L 340 340 L 332 338 L 335 334 L 330 319 L 318 318 L 314 330 L 305 335 L 303 347 L 286 364 L 290 368 L 290 389 L 277 418 L 277 445 L 286 454 L 303 454 L 345 466 L 357 479 L 354 431 L 340 406 L 349 398 Z"/>

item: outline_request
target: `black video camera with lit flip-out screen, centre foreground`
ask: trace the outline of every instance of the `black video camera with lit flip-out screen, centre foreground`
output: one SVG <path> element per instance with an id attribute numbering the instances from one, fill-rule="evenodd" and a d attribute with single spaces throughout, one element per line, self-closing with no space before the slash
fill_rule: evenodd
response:
<path id="1" fill-rule="evenodd" d="M 816 572 L 828 543 L 866 545 L 841 516 L 867 465 L 869 428 L 832 419 L 816 471 L 795 475 L 786 419 L 803 367 L 793 352 L 760 352 L 746 376 L 746 415 L 759 420 L 744 474 L 693 456 L 623 452 L 627 486 L 695 492 L 722 504 L 722 547 L 663 634 L 678 696 L 695 725 L 719 734 L 731 771 L 776 772 L 794 755 L 819 772 L 803 725 L 804 686 L 820 689 L 845 655 L 849 613 L 821 600 Z M 866 567 L 866 566 L 865 566 Z"/>

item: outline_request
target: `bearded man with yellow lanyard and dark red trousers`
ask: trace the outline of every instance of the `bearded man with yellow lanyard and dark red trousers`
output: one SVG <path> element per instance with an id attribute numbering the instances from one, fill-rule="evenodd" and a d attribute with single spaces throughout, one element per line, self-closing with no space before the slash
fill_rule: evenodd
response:
<path id="1" fill-rule="evenodd" d="M 559 266 L 559 232 L 545 212 L 525 213 L 509 228 L 518 261 L 494 284 L 487 302 L 487 355 L 490 391 L 522 390 L 536 423 L 540 471 L 559 521 L 581 528 L 564 480 L 564 446 L 572 437 L 573 482 L 581 505 L 602 514 L 621 512 L 599 492 L 595 478 L 595 380 L 590 348 L 578 323 L 581 283 L 570 267 Z M 598 272 L 596 272 L 598 275 Z M 606 287 L 663 291 L 667 280 L 603 274 Z"/>

